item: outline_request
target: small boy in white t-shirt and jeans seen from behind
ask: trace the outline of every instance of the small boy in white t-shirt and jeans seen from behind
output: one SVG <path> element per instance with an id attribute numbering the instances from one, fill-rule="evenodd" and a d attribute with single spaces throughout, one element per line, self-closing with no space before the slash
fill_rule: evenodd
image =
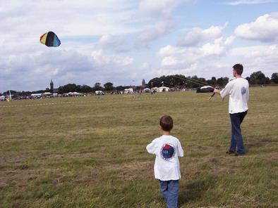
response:
<path id="1" fill-rule="evenodd" d="M 162 136 L 155 138 L 147 145 L 147 152 L 155 154 L 155 178 L 159 180 L 160 190 L 167 203 L 167 208 L 178 206 L 179 157 L 183 157 L 183 149 L 178 138 L 171 136 L 173 119 L 164 115 L 159 122 Z"/>

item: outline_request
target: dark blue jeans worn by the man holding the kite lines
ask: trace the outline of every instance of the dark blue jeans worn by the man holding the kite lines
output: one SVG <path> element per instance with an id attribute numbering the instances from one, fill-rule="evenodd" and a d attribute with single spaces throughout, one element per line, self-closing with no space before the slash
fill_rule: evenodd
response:
<path id="1" fill-rule="evenodd" d="M 231 145 L 230 151 L 235 152 L 237 148 L 238 155 L 244 155 L 244 145 L 243 138 L 241 135 L 241 123 L 243 122 L 244 117 L 247 114 L 247 110 L 245 112 L 238 112 L 235 114 L 230 114 L 231 118 Z"/>

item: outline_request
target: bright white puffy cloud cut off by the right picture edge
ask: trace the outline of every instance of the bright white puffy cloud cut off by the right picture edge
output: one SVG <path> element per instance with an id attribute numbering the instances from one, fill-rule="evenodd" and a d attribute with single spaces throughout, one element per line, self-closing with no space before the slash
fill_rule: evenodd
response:
<path id="1" fill-rule="evenodd" d="M 262 42 L 278 41 L 278 13 L 262 15 L 255 22 L 236 27 L 237 37 Z"/>

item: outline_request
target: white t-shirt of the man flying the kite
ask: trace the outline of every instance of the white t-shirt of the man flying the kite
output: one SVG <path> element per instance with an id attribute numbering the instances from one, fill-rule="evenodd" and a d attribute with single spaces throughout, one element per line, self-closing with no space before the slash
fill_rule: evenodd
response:
<path id="1" fill-rule="evenodd" d="M 230 114 L 248 110 L 249 83 L 246 79 L 241 77 L 231 80 L 220 92 L 223 99 L 228 95 Z"/>

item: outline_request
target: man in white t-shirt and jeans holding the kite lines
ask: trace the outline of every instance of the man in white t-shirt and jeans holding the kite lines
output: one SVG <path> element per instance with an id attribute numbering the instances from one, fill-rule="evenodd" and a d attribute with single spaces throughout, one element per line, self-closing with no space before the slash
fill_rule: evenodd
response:
<path id="1" fill-rule="evenodd" d="M 243 138 L 241 135 L 241 122 L 248 111 L 249 83 L 241 77 L 243 65 L 236 64 L 233 67 L 233 75 L 236 79 L 231 80 L 222 91 L 214 89 L 222 99 L 229 98 L 229 114 L 231 118 L 231 145 L 227 154 L 236 152 L 235 156 L 244 155 Z M 237 149 L 237 151 L 236 151 Z"/>

